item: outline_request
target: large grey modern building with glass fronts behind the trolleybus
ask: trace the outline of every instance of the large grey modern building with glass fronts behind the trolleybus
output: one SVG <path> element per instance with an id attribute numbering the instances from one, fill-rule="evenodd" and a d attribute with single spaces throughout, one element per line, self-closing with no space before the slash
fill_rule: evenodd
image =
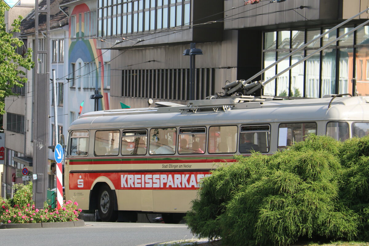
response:
<path id="1" fill-rule="evenodd" d="M 111 107 L 120 108 L 120 101 L 145 107 L 148 98 L 186 103 L 189 57 L 182 53 L 192 42 L 203 53 L 196 56 L 195 99 L 221 92 L 226 83 L 248 79 L 365 10 L 361 2 L 100 0 L 97 45 L 111 49 Z M 255 80 L 268 80 L 367 19 L 363 13 Z M 315 53 L 256 95 L 287 99 L 368 94 L 368 28 Z"/>

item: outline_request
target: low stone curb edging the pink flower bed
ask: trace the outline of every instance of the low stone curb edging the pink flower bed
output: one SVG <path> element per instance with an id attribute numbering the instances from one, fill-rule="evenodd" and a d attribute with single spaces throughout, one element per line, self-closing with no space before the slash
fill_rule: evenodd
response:
<path id="1" fill-rule="evenodd" d="M 21 228 L 63 228 L 85 226 L 85 221 L 67 221 L 67 222 L 42 222 L 25 224 L 0 224 L 0 229 L 21 229 Z"/>

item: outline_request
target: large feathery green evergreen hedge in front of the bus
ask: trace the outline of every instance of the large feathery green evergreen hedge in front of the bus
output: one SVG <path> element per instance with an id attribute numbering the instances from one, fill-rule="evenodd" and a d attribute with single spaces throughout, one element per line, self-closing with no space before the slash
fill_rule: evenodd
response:
<path id="1" fill-rule="evenodd" d="M 230 245 L 369 239 L 369 137 L 309 135 L 274 155 L 235 158 L 192 201 L 186 221 L 197 236 Z"/>

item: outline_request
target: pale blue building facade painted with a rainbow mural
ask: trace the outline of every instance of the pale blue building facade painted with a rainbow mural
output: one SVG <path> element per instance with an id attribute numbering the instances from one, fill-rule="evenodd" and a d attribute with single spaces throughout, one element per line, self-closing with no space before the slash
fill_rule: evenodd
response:
<path id="1" fill-rule="evenodd" d="M 108 110 L 110 94 L 110 51 L 97 49 L 96 1 L 62 1 L 60 7 L 69 13 L 68 47 L 68 124 L 82 114 L 94 110 Z M 102 98 L 94 107 L 91 95 L 98 90 Z"/>

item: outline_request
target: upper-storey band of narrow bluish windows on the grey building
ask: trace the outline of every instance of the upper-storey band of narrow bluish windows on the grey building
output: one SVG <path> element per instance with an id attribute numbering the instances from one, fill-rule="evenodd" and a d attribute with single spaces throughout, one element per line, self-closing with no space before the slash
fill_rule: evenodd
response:
<path id="1" fill-rule="evenodd" d="M 99 0 L 98 36 L 190 25 L 190 0 Z"/>

